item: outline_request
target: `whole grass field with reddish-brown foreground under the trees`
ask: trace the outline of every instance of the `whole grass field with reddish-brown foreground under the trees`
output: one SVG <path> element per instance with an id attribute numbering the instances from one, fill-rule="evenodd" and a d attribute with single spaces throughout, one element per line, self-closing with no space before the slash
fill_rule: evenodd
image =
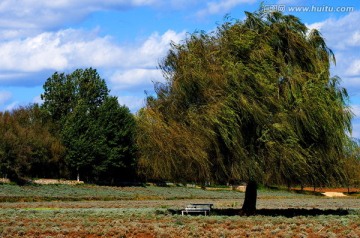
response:
<path id="1" fill-rule="evenodd" d="M 185 187 L 0 185 L 0 199 L 0 237 L 360 237 L 356 195 L 260 190 L 249 217 L 235 215 L 244 193 Z M 193 202 L 214 210 L 178 214 Z"/>

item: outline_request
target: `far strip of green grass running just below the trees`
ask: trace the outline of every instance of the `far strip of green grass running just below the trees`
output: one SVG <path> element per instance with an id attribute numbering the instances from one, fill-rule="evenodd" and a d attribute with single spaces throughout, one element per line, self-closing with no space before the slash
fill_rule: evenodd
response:
<path id="1" fill-rule="evenodd" d="M 260 189 L 259 198 L 297 198 L 303 194 L 282 190 Z M 187 187 L 108 187 L 93 185 L 0 185 L 0 202 L 41 201 L 112 201 L 112 200 L 176 200 L 176 199 L 243 199 L 237 191 L 208 191 Z"/>

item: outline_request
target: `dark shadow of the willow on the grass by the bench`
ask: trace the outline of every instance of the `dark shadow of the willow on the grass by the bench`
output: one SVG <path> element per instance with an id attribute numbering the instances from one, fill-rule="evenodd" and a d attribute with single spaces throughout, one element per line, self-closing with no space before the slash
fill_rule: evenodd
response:
<path id="1" fill-rule="evenodd" d="M 181 210 L 169 209 L 169 213 L 172 215 L 181 215 Z M 288 209 L 258 209 L 255 214 L 251 216 L 283 216 L 283 217 L 297 217 L 297 216 L 320 216 L 320 215 L 335 215 L 335 216 L 346 216 L 351 214 L 351 210 L 344 209 L 299 209 L 299 208 L 288 208 Z M 189 213 L 188 215 L 203 215 L 202 213 Z M 241 209 L 212 209 L 210 216 L 249 216 L 243 214 Z"/>

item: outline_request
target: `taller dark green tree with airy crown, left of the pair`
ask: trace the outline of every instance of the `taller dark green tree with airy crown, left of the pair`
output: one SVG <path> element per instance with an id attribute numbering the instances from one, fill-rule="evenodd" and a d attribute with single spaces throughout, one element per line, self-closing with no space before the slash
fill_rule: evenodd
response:
<path id="1" fill-rule="evenodd" d="M 71 74 L 55 72 L 44 84 L 43 109 L 56 123 L 66 147 L 66 163 L 85 175 L 91 171 L 96 153 L 94 114 L 108 97 L 105 80 L 95 69 L 77 69 Z"/>

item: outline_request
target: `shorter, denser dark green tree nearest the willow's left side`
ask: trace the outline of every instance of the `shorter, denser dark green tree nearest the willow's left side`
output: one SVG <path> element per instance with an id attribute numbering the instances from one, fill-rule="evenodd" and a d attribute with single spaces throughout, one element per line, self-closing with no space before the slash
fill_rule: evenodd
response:
<path id="1" fill-rule="evenodd" d="M 130 110 L 120 106 L 116 97 L 108 97 L 97 110 L 94 124 L 100 144 L 94 168 L 97 180 L 107 184 L 133 180 L 135 119 Z"/>

